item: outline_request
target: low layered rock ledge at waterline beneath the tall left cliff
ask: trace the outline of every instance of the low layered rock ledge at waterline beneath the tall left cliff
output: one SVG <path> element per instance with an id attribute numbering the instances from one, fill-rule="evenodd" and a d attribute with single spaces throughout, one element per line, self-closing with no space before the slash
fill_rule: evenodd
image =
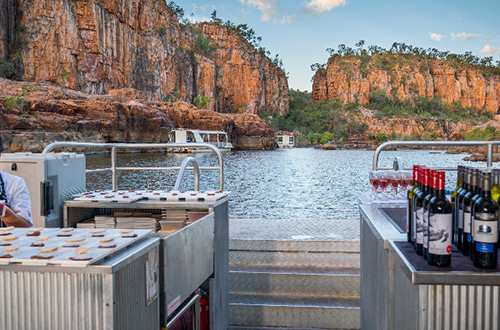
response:
<path id="1" fill-rule="evenodd" d="M 23 96 L 23 88 L 36 90 Z M 40 152 L 53 141 L 161 143 L 168 142 L 175 127 L 223 129 L 239 149 L 272 149 L 275 144 L 271 128 L 256 115 L 148 101 L 134 89 L 90 95 L 0 79 L 0 132 L 7 151 Z"/>

